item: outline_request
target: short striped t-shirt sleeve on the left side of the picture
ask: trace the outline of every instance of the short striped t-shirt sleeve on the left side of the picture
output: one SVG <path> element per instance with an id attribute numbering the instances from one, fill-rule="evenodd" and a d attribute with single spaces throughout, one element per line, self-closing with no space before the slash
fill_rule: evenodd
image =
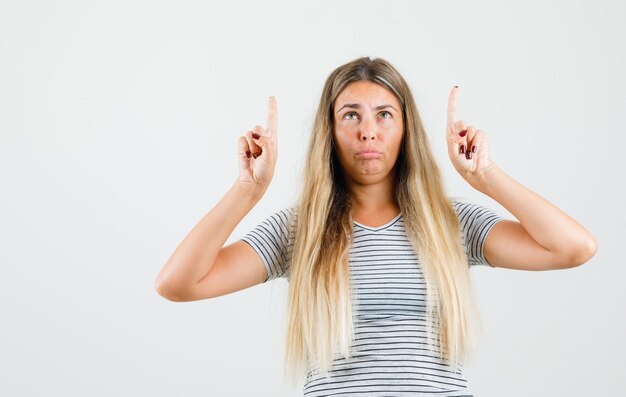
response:
<path id="1" fill-rule="evenodd" d="M 277 211 L 241 238 L 259 254 L 267 271 L 264 283 L 287 277 L 295 238 L 295 215 L 294 207 Z"/>

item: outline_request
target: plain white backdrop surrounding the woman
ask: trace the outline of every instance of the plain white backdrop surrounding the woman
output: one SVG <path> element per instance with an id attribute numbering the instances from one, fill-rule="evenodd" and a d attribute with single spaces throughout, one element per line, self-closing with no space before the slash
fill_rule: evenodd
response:
<path id="1" fill-rule="evenodd" d="M 623 1 L 0 1 L 0 395 L 298 396 L 285 279 L 174 303 L 154 280 L 278 102 L 279 159 L 236 241 L 296 197 L 321 89 L 383 57 L 451 195 L 446 105 L 599 241 L 562 271 L 474 268 L 476 396 L 626 390 Z"/>

